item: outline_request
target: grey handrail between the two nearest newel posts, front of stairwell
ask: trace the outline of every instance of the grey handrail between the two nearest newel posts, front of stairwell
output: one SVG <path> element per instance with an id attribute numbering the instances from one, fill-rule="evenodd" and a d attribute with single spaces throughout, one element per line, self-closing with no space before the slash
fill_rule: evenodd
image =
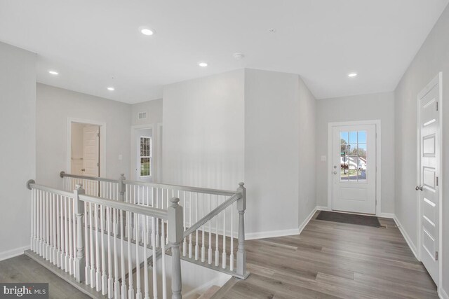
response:
<path id="1" fill-rule="evenodd" d="M 112 207 L 114 209 L 121 209 L 123 211 L 130 211 L 136 214 L 141 214 L 150 217 L 161 218 L 167 220 L 167 210 L 156 209 L 154 207 L 143 206 L 139 204 L 130 204 L 128 202 L 119 202 L 117 200 L 108 200 L 102 197 L 79 195 L 79 199 L 83 202 L 91 202 L 93 204 L 101 204 L 105 207 Z"/>

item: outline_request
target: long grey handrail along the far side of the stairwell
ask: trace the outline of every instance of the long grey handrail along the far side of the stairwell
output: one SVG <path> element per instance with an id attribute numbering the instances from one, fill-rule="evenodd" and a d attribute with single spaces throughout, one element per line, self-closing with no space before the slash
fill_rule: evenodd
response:
<path id="1" fill-rule="evenodd" d="M 111 183 L 119 183 L 120 180 L 117 179 L 107 179 L 97 176 L 81 176 L 76 174 L 66 174 L 65 172 L 60 172 L 60 177 L 69 177 L 74 179 L 86 179 L 86 180 L 92 180 L 92 181 L 107 181 Z M 221 190 L 221 189 L 213 189 L 213 188 L 201 188 L 201 187 L 190 187 L 190 186 L 180 186 L 180 185 L 172 185 L 168 183 L 147 183 L 143 181 L 131 181 L 131 180 L 123 180 L 123 183 L 129 184 L 129 185 L 138 185 L 138 186 L 148 186 L 148 187 L 156 187 L 156 188 L 168 188 L 168 189 L 175 189 L 175 190 L 182 190 L 182 191 L 189 191 L 189 192 L 196 192 L 196 193 L 206 193 L 206 194 L 213 194 L 213 195 L 225 195 L 225 196 L 232 196 L 236 194 L 236 191 L 234 190 Z"/>

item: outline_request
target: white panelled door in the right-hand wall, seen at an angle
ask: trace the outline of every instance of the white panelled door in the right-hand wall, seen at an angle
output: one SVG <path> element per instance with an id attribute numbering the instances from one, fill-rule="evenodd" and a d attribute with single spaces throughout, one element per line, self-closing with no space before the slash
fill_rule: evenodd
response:
<path id="1" fill-rule="evenodd" d="M 418 186 L 420 197 L 421 260 L 427 271 L 438 284 L 438 246 L 439 246 L 439 127 L 438 101 L 440 83 L 438 77 L 418 95 L 419 135 Z"/>

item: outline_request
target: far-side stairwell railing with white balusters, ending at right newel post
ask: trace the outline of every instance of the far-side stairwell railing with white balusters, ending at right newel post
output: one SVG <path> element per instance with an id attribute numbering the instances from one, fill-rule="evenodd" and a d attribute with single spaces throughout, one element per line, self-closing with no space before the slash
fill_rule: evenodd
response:
<path id="1" fill-rule="evenodd" d="M 170 198 L 179 198 L 179 204 L 183 207 L 182 226 L 185 231 L 181 244 L 181 258 L 235 277 L 244 279 L 248 276 L 244 247 L 246 188 L 243 183 L 239 183 L 239 188 L 233 191 L 129 181 L 123 174 L 118 180 L 76 176 L 65 174 L 65 172 L 60 172 L 60 176 L 65 186 L 71 187 L 74 182 L 87 182 L 91 188 L 90 193 L 95 193 L 95 183 L 109 188 L 112 186 L 112 190 L 100 188 L 102 197 L 112 194 L 112 197 L 107 198 L 123 199 L 130 204 L 156 209 L 167 209 Z M 92 184 L 89 181 L 95 183 Z M 156 222 L 155 231 L 150 229 L 154 226 L 150 226 L 149 223 L 145 223 L 144 230 L 142 219 L 139 221 L 138 230 L 135 229 L 135 221 L 126 222 L 126 237 L 129 234 L 128 225 L 130 225 L 132 239 L 135 239 L 136 234 L 139 234 L 140 240 L 142 235 L 147 235 L 152 248 L 158 251 L 161 251 L 162 247 L 168 249 L 166 221 Z M 154 242 L 152 233 L 154 233 Z"/>

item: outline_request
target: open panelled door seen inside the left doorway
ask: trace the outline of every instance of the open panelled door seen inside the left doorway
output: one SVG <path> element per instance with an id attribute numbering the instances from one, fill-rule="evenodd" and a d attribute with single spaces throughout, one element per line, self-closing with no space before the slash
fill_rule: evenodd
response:
<path id="1" fill-rule="evenodd" d="M 83 127 L 83 175 L 100 176 L 100 127 Z"/>

